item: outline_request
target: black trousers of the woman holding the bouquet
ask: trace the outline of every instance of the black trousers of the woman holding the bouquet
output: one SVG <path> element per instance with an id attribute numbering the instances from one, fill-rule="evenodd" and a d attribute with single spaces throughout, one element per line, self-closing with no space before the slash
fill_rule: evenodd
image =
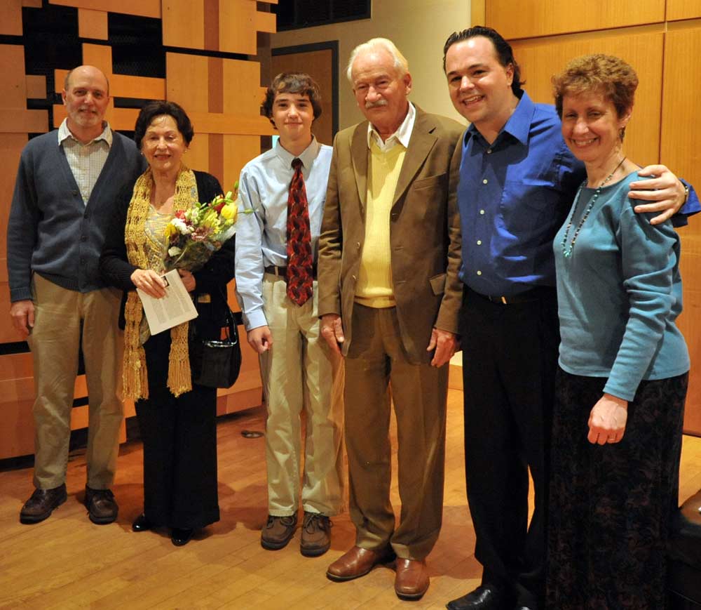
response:
<path id="1" fill-rule="evenodd" d="M 199 529 L 219 521 L 217 390 L 168 390 L 170 332 L 144 344 L 149 398 L 136 403 L 144 442 L 144 514 L 154 525 Z"/>

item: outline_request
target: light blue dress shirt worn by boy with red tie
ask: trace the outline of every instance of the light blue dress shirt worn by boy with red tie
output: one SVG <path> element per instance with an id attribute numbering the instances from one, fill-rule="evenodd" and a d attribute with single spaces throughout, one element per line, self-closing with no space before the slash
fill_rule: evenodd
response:
<path id="1" fill-rule="evenodd" d="M 299 155 L 303 164 L 315 261 L 332 151 L 332 147 L 313 138 Z M 295 158 L 278 140 L 275 147 L 244 166 L 238 181 L 236 296 L 247 331 L 267 324 L 262 297 L 264 268 L 287 266 L 287 194 L 294 174 L 292 159 Z M 253 213 L 243 213 L 246 210 L 253 210 Z"/>

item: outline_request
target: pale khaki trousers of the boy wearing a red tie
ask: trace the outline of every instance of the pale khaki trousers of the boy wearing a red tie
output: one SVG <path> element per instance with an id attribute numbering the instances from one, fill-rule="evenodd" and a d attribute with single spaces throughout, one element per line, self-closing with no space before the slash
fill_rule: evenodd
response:
<path id="1" fill-rule="evenodd" d="M 295 305 L 282 277 L 265 274 L 264 313 L 273 335 L 261 354 L 266 393 L 268 512 L 297 512 L 301 460 L 301 420 L 306 413 L 304 510 L 336 515 L 343 508 L 343 366 L 320 336 L 317 283 L 313 298 Z"/>

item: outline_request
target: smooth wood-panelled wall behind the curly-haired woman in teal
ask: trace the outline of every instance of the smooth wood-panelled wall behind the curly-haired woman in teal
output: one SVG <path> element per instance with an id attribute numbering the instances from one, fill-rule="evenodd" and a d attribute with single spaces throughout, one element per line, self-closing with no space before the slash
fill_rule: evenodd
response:
<path id="1" fill-rule="evenodd" d="M 701 0 L 472 0 L 472 24 L 510 41 L 526 91 L 552 103 L 550 77 L 584 53 L 610 53 L 636 69 L 640 85 L 625 152 L 661 162 L 701 192 L 697 119 L 701 99 Z M 691 356 L 686 432 L 701 435 L 701 216 L 679 230 L 684 311 L 678 324 Z"/>

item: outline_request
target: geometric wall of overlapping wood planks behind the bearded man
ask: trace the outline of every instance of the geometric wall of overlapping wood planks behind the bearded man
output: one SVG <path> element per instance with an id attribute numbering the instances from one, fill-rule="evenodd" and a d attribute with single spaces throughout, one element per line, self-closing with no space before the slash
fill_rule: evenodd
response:
<path id="1" fill-rule="evenodd" d="M 65 117 L 67 70 L 102 69 L 112 98 L 107 120 L 118 131 L 133 131 L 144 100 L 178 102 L 196 133 L 187 163 L 229 190 L 260 153 L 261 136 L 273 133 L 259 112 L 261 62 L 267 82 L 275 32 L 271 4 L 278 0 L 0 0 L 0 460 L 34 451 L 32 359 L 8 314 L 6 218 L 22 147 Z M 229 296 L 238 309 L 233 283 Z M 260 404 L 257 356 L 242 347 L 238 382 L 219 392 L 220 414 Z M 75 397 L 74 429 L 87 424 L 82 375 Z M 132 415 L 133 405 L 125 407 Z"/>

